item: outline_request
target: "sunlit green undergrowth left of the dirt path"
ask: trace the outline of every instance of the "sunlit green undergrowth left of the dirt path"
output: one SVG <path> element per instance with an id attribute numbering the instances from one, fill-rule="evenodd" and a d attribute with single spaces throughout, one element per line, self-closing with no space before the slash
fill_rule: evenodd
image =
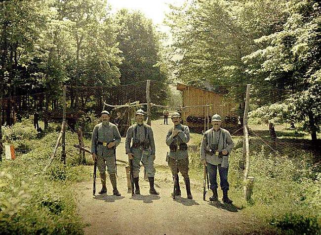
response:
<path id="1" fill-rule="evenodd" d="M 72 184 L 89 179 L 90 173 L 85 166 L 70 165 L 78 157 L 72 147 L 66 166 L 60 162 L 58 150 L 57 159 L 42 174 L 58 133 L 49 133 L 39 141 L 29 138 L 30 128 L 28 120 L 14 125 L 12 133 L 26 139 L 10 140 L 15 146 L 23 141 L 29 152 L 0 163 L 0 234 L 83 234 Z M 67 132 L 66 136 L 67 146 L 78 142 L 76 134 Z"/>

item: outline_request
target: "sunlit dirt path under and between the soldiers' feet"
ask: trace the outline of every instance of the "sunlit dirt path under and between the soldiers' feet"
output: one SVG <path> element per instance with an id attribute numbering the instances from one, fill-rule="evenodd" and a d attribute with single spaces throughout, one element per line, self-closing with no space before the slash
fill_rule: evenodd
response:
<path id="1" fill-rule="evenodd" d="M 78 211 L 88 224 L 85 234 L 90 235 L 230 235 L 230 234 L 273 234 L 254 229 L 248 218 L 243 218 L 240 208 L 221 203 L 212 204 L 202 200 L 202 183 L 192 180 L 193 200 L 187 199 L 182 177 L 180 185 L 182 196 L 173 201 L 172 178 L 165 162 L 167 146 L 164 138 L 171 125 L 160 125 L 162 120 L 152 123 L 156 141 L 155 188 L 160 195 L 149 194 L 149 183 L 140 173 L 141 195 L 127 193 L 125 169 L 118 167 L 118 188 L 121 196 L 113 196 L 109 180 L 107 194 L 92 195 L 92 182 L 79 184 Z M 124 140 L 117 148 L 117 158 L 127 160 Z M 101 184 L 97 178 L 97 191 Z M 207 193 L 206 199 L 210 196 Z M 219 196 L 221 192 L 219 190 Z"/>

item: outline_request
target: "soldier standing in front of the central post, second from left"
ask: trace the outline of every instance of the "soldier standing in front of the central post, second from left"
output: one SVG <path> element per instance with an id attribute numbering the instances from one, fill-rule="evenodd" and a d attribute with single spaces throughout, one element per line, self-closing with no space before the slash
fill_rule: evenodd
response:
<path id="1" fill-rule="evenodd" d="M 125 148 L 129 159 L 133 159 L 135 194 L 140 194 L 139 169 L 143 163 L 150 184 L 149 193 L 158 195 L 154 188 L 155 141 L 152 128 L 144 124 L 145 112 L 139 109 L 135 113 L 136 123 L 126 133 Z M 131 146 L 130 146 L 131 144 Z"/>

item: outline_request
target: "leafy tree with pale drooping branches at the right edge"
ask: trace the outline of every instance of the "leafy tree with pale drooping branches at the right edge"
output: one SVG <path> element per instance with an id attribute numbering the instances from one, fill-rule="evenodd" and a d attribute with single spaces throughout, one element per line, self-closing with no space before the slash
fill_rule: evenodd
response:
<path id="1" fill-rule="evenodd" d="M 321 5 L 317 0 L 290 0 L 289 17 L 280 32 L 262 37 L 268 45 L 244 58 L 248 73 L 290 94 L 279 103 L 294 104 L 293 117 L 317 139 L 321 124 Z"/>

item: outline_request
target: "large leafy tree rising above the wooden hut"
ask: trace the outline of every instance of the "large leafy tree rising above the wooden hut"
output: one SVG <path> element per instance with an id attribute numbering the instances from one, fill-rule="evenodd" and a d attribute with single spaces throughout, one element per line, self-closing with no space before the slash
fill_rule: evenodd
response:
<path id="1" fill-rule="evenodd" d="M 228 85 L 230 95 L 243 103 L 245 86 L 237 85 L 252 81 L 242 57 L 262 46 L 255 39 L 280 30 L 283 4 L 284 0 L 196 0 L 171 5 L 167 25 L 173 52 L 180 55 L 173 60 L 178 79 L 201 88 L 205 83 Z"/>

